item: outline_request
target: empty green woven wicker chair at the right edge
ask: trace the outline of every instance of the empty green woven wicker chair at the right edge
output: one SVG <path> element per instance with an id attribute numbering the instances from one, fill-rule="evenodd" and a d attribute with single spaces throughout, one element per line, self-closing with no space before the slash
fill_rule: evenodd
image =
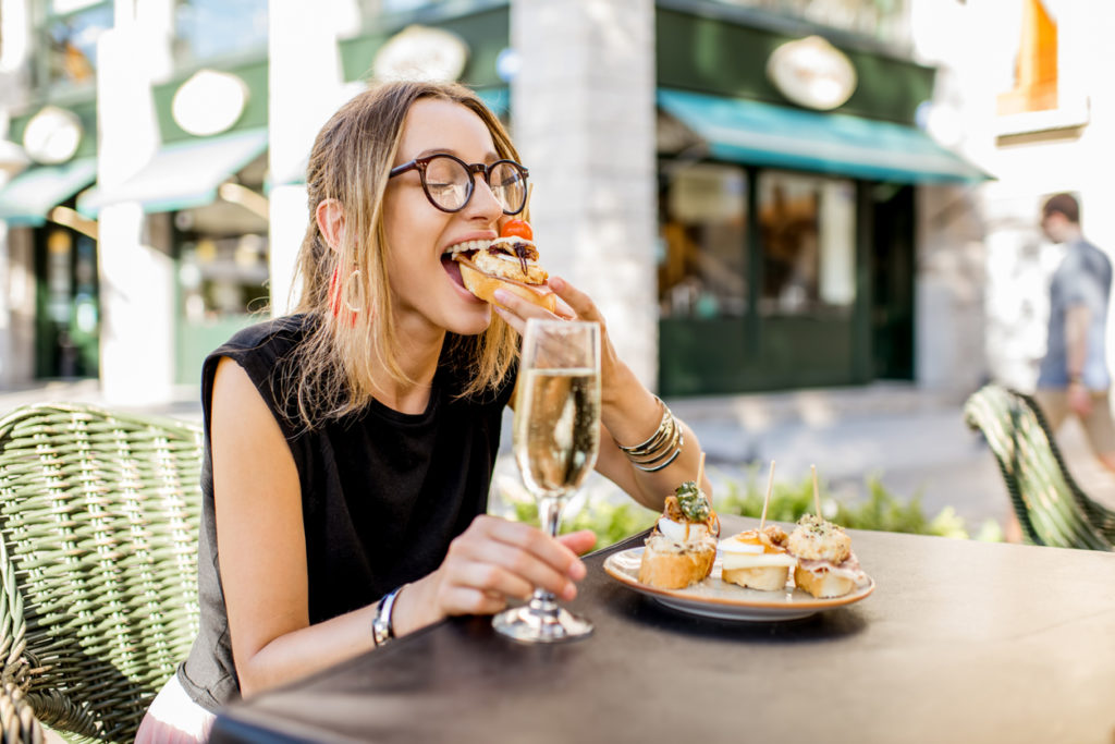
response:
<path id="1" fill-rule="evenodd" d="M 964 404 L 983 432 L 1028 542 L 1112 550 L 1115 512 L 1089 499 L 1069 475 L 1041 409 L 1027 395 L 987 385 Z"/>

